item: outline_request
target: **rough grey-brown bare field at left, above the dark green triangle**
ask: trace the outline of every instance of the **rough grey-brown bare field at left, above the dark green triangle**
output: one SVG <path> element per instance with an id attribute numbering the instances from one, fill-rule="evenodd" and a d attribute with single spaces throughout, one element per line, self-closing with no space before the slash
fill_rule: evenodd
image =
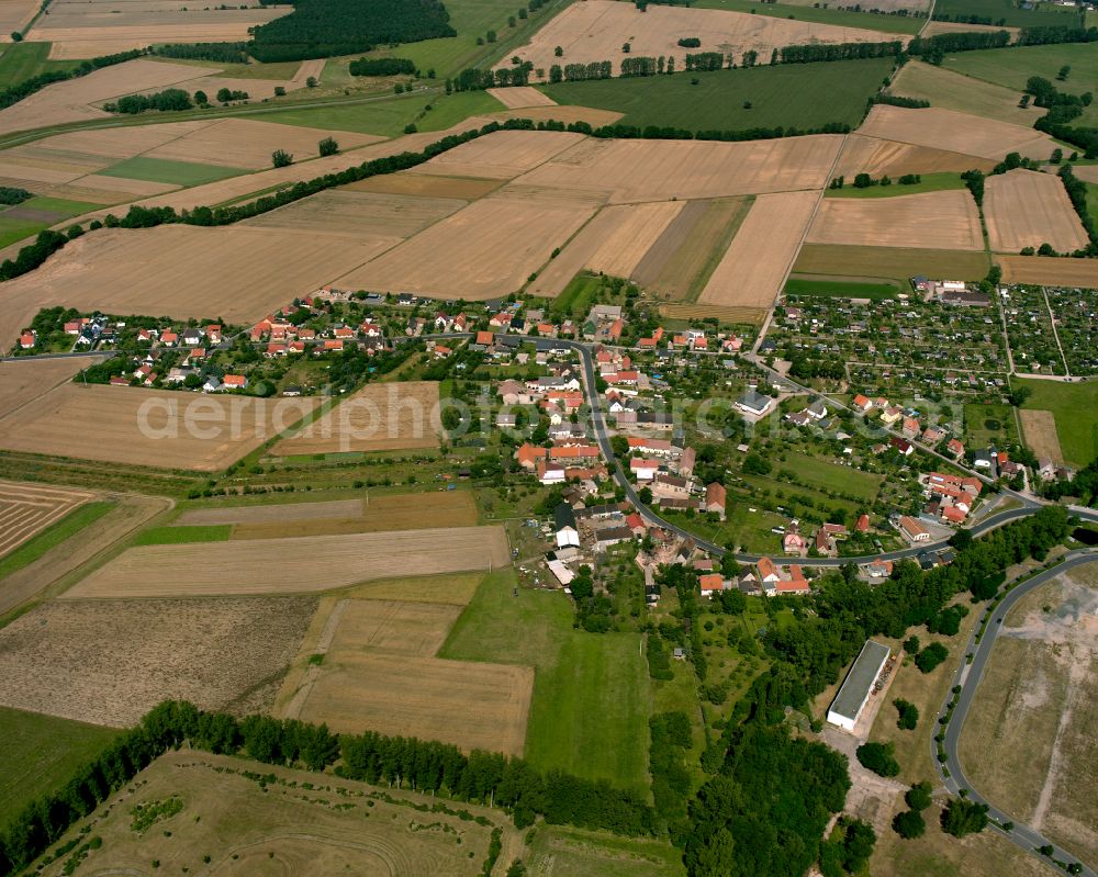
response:
<path id="1" fill-rule="evenodd" d="M 310 597 L 47 603 L 0 630 L 0 704 L 120 728 L 167 698 L 264 711 L 315 607 Z"/>

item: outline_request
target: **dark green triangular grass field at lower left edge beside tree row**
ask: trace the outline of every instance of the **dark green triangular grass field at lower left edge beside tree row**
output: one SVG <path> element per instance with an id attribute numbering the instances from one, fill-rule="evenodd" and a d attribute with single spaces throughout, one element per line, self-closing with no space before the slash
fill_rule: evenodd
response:
<path id="1" fill-rule="evenodd" d="M 0 707 L 0 825 L 40 795 L 64 786 L 116 734 L 111 728 Z"/>

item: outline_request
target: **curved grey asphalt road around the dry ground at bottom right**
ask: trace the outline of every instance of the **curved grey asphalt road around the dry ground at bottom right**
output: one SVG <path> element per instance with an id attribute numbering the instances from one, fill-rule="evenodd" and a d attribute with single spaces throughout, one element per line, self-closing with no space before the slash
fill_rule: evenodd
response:
<path id="1" fill-rule="evenodd" d="M 993 823 L 993 829 L 995 831 L 998 831 L 1026 852 L 1032 853 L 1033 855 L 1049 862 L 1051 867 L 1055 867 L 1051 859 L 1045 859 L 1044 856 L 1041 856 L 1040 853 L 1035 852 L 1038 847 L 1045 845 L 1052 846 L 1054 850 L 1053 858 L 1066 862 L 1068 865 L 1078 863 L 1083 868 L 1079 873 L 1086 875 L 1086 877 L 1098 877 L 1098 875 L 1095 874 L 1094 869 L 1084 865 L 1077 856 L 1054 844 L 1047 837 L 1029 825 L 1018 822 L 1009 813 L 1005 813 L 1002 810 L 999 810 L 995 807 L 995 805 L 990 803 L 990 801 L 984 798 L 972 787 L 972 783 L 970 783 L 968 778 L 964 775 L 964 769 L 961 767 L 961 761 L 957 758 L 957 743 L 961 740 L 961 731 L 964 728 L 965 718 L 968 716 L 968 709 L 972 707 L 972 702 L 975 699 L 976 689 L 979 687 L 984 672 L 987 668 L 987 662 L 991 656 L 991 650 L 995 646 L 995 640 L 996 637 L 998 637 L 1000 623 L 1002 619 L 1006 618 L 1007 611 L 1010 607 L 1033 591 L 1033 588 L 1040 587 L 1061 573 L 1075 566 L 1080 566 L 1084 563 L 1094 563 L 1096 561 L 1098 561 L 1098 549 L 1069 551 L 1061 563 L 1033 576 L 1028 582 L 1023 582 L 1007 594 L 1002 603 L 996 607 L 995 612 L 991 615 L 991 619 L 988 622 L 978 645 L 975 644 L 976 631 L 979 629 L 978 626 L 973 630 L 968 639 L 967 646 L 962 651 L 962 655 L 967 655 L 970 652 L 973 653 L 972 664 L 967 664 L 965 662 L 965 657 L 962 656 L 961 665 L 957 667 L 956 674 L 953 678 L 953 685 L 950 686 L 951 690 L 946 694 L 945 702 L 942 704 L 941 710 L 939 711 L 939 717 L 945 716 L 949 701 L 953 697 L 952 688 L 960 685 L 961 697 L 957 700 L 956 708 L 953 710 L 952 720 L 945 727 L 945 740 L 943 742 L 943 746 L 945 749 L 948 761 L 944 765 L 940 764 L 938 761 L 938 751 L 933 739 L 930 741 L 931 758 L 933 760 L 935 769 L 938 771 L 938 777 L 941 779 L 948 791 L 956 795 L 962 788 L 968 789 L 970 800 L 986 803 L 988 806 L 988 817 L 1000 824 L 1005 822 L 1015 823 L 1010 831 L 1004 831 L 998 825 Z M 942 771 L 943 767 L 949 769 L 950 775 L 948 777 Z"/>

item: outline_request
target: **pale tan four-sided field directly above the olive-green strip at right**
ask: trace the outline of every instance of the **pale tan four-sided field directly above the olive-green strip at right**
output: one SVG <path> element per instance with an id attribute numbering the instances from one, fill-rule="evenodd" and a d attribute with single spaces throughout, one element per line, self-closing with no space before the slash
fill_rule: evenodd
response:
<path id="1" fill-rule="evenodd" d="M 966 189 L 895 198 L 826 198 L 807 243 L 984 249 L 976 202 Z"/>

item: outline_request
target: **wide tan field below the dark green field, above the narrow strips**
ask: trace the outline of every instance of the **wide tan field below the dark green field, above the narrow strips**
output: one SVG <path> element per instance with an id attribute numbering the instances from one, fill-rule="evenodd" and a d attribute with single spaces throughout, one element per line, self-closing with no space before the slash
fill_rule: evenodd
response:
<path id="1" fill-rule="evenodd" d="M 744 143 L 591 138 L 519 182 L 609 191 L 613 203 L 822 189 L 841 145 L 833 134 Z"/>

